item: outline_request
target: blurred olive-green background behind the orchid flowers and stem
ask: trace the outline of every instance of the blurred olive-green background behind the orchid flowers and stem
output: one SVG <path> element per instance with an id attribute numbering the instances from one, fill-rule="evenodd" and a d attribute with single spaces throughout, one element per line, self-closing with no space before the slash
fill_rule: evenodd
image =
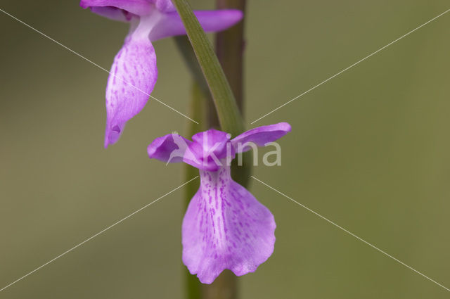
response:
<path id="1" fill-rule="evenodd" d="M 212 1 L 191 1 L 212 8 Z M 127 25 L 78 1 L 1 9 L 110 68 Z M 449 8 L 449 1 L 249 1 L 245 117 L 268 113 Z M 155 101 L 103 148 L 108 74 L 0 13 L 0 288 L 184 182 L 146 146 L 186 119 Z M 283 165 L 258 179 L 450 286 L 450 13 L 255 125 L 290 122 Z M 153 96 L 188 111 L 172 39 Z M 242 298 L 449 298 L 449 292 L 256 181 L 274 255 Z M 0 293 L 0 298 L 182 298 L 183 191 Z"/>

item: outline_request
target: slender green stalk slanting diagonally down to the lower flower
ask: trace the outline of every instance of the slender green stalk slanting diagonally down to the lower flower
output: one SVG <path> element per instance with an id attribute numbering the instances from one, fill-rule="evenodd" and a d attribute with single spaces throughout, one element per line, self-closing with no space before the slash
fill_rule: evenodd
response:
<path id="1" fill-rule="evenodd" d="M 188 2 L 186 0 L 173 0 L 173 3 L 184 23 L 189 41 L 210 88 L 221 130 L 229 132 L 232 136 L 237 136 L 244 131 L 243 120 L 233 91 L 231 91 L 230 84 L 226 80 L 224 70 L 222 70 L 212 49 L 212 44 L 200 23 L 198 23 Z"/>

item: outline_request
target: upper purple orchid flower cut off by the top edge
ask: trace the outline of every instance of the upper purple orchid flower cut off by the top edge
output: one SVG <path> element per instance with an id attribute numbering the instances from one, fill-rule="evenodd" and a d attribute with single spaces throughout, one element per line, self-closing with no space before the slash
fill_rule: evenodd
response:
<path id="1" fill-rule="evenodd" d="M 153 91 L 158 69 L 151 42 L 186 31 L 170 0 L 81 0 L 79 5 L 131 25 L 106 87 L 106 148 L 117 142 L 127 121 L 142 110 Z M 225 30 L 243 17 L 238 10 L 194 13 L 206 32 Z"/>

